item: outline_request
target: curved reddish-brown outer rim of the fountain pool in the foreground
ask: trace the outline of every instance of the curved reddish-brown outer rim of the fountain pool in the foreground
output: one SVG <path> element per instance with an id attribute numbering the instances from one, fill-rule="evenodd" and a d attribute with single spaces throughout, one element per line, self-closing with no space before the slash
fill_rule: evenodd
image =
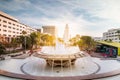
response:
<path id="1" fill-rule="evenodd" d="M 19 74 L 19 73 L 13 73 L 9 71 L 5 71 L 0 69 L 0 75 L 12 77 L 12 78 L 19 78 L 19 79 L 37 79 L 37 80 L 81 80 L 81 79 L 99 79 L 99 78 L 105 78 L 105 77 L 111 77 L 115 75 L 120 74 L 120 68 L 114 71 L 105 72 L 105 73 L 98 73 L 98 74 L 90 74 L 85 76 L 65 76 L 65 77 L 50 77 L 50 76 L 33 76 L 33 75 L 26 75 L 26 74 Z"/>

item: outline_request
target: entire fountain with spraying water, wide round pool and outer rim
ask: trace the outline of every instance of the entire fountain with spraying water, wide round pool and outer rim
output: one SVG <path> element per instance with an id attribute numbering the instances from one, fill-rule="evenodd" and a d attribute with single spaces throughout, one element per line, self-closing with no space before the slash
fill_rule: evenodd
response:
<path id="1" fill-rule="evenodd" d="M 96 79 L 120 74 L 120 63 L 90 57 L 77 46 L 65 46 L 57 41 L 56 47 L 44 46 L 26 59 L 0 61 L 0 74 L 37 80 Z"/>

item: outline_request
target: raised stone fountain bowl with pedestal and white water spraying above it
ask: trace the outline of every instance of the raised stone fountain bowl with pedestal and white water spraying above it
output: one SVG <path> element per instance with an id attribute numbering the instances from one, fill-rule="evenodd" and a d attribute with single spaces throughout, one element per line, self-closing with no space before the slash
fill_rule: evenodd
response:
<path id="1" fill-rule="evenodd" d="M 46 63 L 51 67 L 62 66 L 70 67 L 75 64 L 77 58 L 84 56 L 76 46 L 71 47 L 50 47 L 45 46 L 42 48 L 41 52 L 34 54 L 34 56 L 43 58 L 46 60 Z"/>

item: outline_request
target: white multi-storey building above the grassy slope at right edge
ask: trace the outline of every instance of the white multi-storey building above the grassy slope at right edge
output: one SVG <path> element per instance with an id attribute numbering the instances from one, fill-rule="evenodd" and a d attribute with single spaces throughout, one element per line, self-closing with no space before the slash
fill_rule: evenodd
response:
<path id="1" fill-rule="evenodd" d="M 120 28 L 110 29 L 103 33 L 103 40 L 112 40 L 113 42 L 120 42 Z"/>

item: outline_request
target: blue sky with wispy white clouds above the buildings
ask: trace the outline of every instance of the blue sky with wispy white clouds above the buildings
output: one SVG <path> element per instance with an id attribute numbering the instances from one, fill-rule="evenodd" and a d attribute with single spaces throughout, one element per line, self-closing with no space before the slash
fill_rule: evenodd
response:
<path id="1" fill-rule="evenodd" d="M 66 24 L 71 36 L 120 28 L 120 0 L 0 0 L 0 11 L 33 28 L 56 26 L 59 37 Z"/>

